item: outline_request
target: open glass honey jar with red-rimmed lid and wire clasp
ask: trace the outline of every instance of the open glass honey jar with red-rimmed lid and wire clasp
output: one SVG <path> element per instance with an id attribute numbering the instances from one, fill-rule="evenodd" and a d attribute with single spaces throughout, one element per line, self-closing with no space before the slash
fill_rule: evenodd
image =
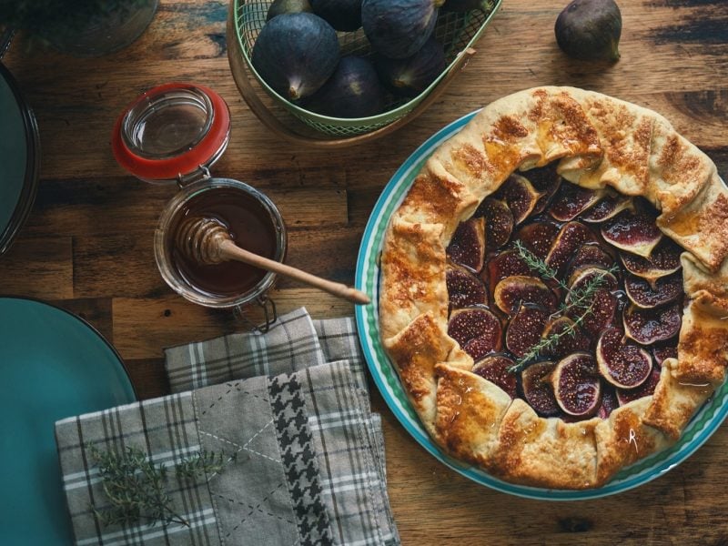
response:
<path id="1" fill-rule="evenodd" d="M 137 97 L 116 120 L 112 149 L 116 161 L 152 184 L 177 184 L 180 191 L 162 210 L 154 237 L 157 268 L 167 285 L 207 308 L 243 309 L 257 304 L 276 319 L 268 298 L 274 273 L 238 261 L 207 265 L 182 252 L 179 229 L 188 217 L 214 218 L 242 248 L 282 262 L 287 234 L 275 204 L 238 180 L 218 178 L 210 167 L 230 137 L 230 114 L 223 98 L 206 86 L 171 83 Z"/>

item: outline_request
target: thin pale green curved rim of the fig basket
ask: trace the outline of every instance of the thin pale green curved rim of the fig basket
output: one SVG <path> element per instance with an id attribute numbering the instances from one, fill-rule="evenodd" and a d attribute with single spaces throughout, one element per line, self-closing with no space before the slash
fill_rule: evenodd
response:
<path id="1" fill-rule="evenodd" d="M 430 95 L 430 92 L 437 87 L 440 84 L 440 81 L 442 78 L 448 75 L 450 70 L 452 70 L 453 66 L 457 63 L 458 57 L 462 55 L 462 52 L 468 49 L 469 47 L 472 47 L 479 39 L 480 35 L 485 31 L 486 26 L 490 24 L 490 20 L 492 19 L 493 15 L 495 15 L 498 10 L 501 8 L 502 0 L 494 0 L 493 2 L 493 8 L 490 10 L 490 14 L 488 14 L 485 17 L 485 20 L 480 25 L 480 28 L 478 29 L 478 32 L 476 32 L 472 37 L 470 38 L 470 41 L 467 45 L 465 45 L 461 50 L 460 53 L 453 58 L 453 60 L 450 62 L 450 65 L 448 65 L 431 84 L 428 86 L 424 91 L 420 93 L 418 96 L 412 97 L 409 101 L 404 103 L 403 105 L 397 106 L 396 108 L 393 108 L 391 110 L 388 110 L 386 112 L 382 112 L 380 114 L 377 114 L 376 116 L 369 116 L 369 117 L 330 117 L 330 116 L 322 116 L 321 114 L 317 114 L 316 112 L 311 112 L 310 110 L 307 110 L 306 108 L 302 108 L 301 106 L 295 105 L 292 102 L 288 101 L 283 96 L 280 96 L 274 89 L 272 89 L 268 84 L 263 80 L 263 78 L 258 74 L 258 71 L 253 66 L 252 61 L 250 60 L 250 57 L 248 56 L 248 53 L 246 52 L 246 47 L 243 43 L 243 37 L 240 33 L 240 25 L 238 25 L 238 10 L 240 8 L 241 0 L 231 0 L 233 2 L 233 12 L 234 12 L 234 26 L 235 26 L 235 38 L 238 40 L 238 45 L 240 46 L 240 52 L 243 55 L 243 58 L 245 59 L 246 66 L 248 67 L 248 70 L 250 73 L 255 76 L 256 80 L 258 81 L 258 84 L 265 89 L 265 91 L 268 93 L 268 96 L 271 96 L 276 102 L 278 102 L 281 106 L 286 108 L 289 112 L 291 112 L 295 116 L 299 117 L 305 117 L 310 122 L 315 122 L 323 125 L 329 125 L 329 126 L 338 126 L 338 127 L 361 127 L 361 126 L 385 126 L 389 123 L 393 123 L 399 117 L 406 116 L 410 113 L 412 109 L 414 109 L 416 106 L 420 104 L 420 102 L 428 95 Z"/>

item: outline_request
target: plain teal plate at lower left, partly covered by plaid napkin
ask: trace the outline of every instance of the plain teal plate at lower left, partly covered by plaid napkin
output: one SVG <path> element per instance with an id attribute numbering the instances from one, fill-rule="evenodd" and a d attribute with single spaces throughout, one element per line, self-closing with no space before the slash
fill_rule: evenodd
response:
<path id="1" fill-rule="evenodd" d="M 72 541 L 54 423 L 135 399 L 116 351 L 86 322 L 0 298 L 0 542 Z"/>

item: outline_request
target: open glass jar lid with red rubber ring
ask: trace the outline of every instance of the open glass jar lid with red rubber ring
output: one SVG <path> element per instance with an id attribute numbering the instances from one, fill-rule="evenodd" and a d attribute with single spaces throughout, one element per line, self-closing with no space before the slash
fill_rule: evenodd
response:
<path id="1" fill-rule="evenodd" d="M 116 119 L 116 161 L 147 181 L 176 180 L 209 167 L 230 135 L 227 103 L 206 86 L 170 83 L 138 96 Z"/>

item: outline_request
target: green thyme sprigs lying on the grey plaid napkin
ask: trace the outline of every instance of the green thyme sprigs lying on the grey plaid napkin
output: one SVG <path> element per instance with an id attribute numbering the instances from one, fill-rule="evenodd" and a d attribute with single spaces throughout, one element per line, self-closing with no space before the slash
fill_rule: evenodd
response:
<path id="1" fill-rule="evenodd" d="M 128 446 L 126 451 L 102 451 L 94 445 L 87 447 L 101 476 L 108 506 L 91 507 L 104 525 L 128 524 L 148 521 L 163 525 L 189 522 L 180 516 L 167 494 L 168 469 L 155 464 L 138 448 Z M 235 460 L 235 455 L 229 457 Z M 225 454 L 220 451 L 199 451 L 174 466 L 177 479 L 197 480 L 223 471 Z"/>

